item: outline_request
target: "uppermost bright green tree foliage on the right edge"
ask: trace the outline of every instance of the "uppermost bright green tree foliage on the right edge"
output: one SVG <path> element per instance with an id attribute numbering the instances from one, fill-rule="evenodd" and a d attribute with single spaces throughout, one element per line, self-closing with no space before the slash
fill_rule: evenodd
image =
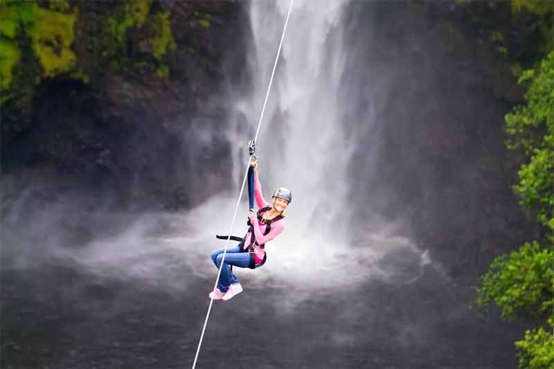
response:
<path id="1" fill-rule="evenodd" d="M 528 104 L 506 115 L 508 147 L 522 147 L 529 162 L 519 169 L 515 190 L 521 203 L 537 209 L 537 219 L 554 231 L 554 52 L 537 70 L 524 71 Z"/>

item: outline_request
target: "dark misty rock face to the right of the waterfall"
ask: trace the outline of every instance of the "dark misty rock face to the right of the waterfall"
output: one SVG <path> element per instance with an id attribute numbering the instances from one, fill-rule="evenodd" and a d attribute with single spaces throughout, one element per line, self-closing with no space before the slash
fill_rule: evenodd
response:
<path id="1" fill-rule="evenodd" d="M 352 195 L 368 199 L 357 215 L 407 220 L 404 232 L 474 283 L 537 232 L 512 191 L 519 157 L 503 132 L 523 100 L 511 68 L 536 56 L 533 21 L 484 2 L 352 3 L 346 17 L 347 42 L 364 50 L 352 68 L 367 75 L 343 95 L 369 102 L 346 114 L 373 125 L 352 161 Z"/>

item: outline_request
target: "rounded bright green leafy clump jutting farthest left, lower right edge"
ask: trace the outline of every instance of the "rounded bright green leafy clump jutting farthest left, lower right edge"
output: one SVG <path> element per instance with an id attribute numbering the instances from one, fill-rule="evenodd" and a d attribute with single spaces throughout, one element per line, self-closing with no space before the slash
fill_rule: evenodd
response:
<path id="1" fill-rule="evenodd" d="M 512 320 L 519 310 L 544 314 L 554 307 L 554 250 L 526 243 L 510 255 L 501 255 L 481 277 L 476 304 L 491 302 Z"/>

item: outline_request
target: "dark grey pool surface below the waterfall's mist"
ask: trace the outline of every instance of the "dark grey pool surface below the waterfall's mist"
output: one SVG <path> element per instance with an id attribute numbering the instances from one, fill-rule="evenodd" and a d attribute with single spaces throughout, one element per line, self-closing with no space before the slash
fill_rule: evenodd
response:
<path id="1" fill-rule="evenodd" d="M 516 332 L 432 269 L 329 289 L 249 288 L 256 274 L 237 273 L 244 292 L 214 303 L 197 368 L 516 368 Z M 181 278 L 177 293 L 48 262 L 3 268 L 2 368 L 192 367 L 213 278 Z"/>

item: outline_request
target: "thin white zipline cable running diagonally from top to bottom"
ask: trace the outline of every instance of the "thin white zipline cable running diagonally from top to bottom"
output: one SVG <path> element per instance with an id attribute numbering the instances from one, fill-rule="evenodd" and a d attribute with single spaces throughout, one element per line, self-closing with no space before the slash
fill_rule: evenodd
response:
<path id="1" fill-rule="evenodd" d="M 265 107 L 267 105 L 267 99 L 269 98 L 269 91 L 271 90 L 271 84 L 273 84 L 273 78 L 274 78 L 274 75 L 275 75 L 275 70 L 277 68 L 277 62 L 279 60 L 279 55 L 281 53 L 281 47 L 283 46 L 283 39 L 285 39 L 285 32 L 287 30 L 287 24 L 289 23 L 290 12 L 292 10 L 292 3 L 294 3 L 294 0 L 290 0 L 289 11 L 287 12 L 287 19 L 285 19 L 285 26 L 283 26 L 283 34 L 281 35 L 281 39 L 280 39 L 280 42 L 279 42 L 277 55 L 275 57 L 275 62 L 274 62 L 274 65 L 273 65 L 273 71 L 271 71 L 271 78 L 269 79 L 269 86 L 267 87 L 267 93 L 265 94 L 264 105 L 262 107 L 262 113 L 260 114 L 260 120 L 258 121 L 258 129 L 256 130 L 256 136 L 254 137 L 254 143 L 256 143 L 256 141 L 258 141 L 258 134 L 260 133 L 260 127 L 262 126 L 262 120 L 264 118 L 264 113 L 265 113 Z M 222 269 L 223 263 L 225 261 L 225 255 L 227 253 L 227 247 L 229 246 L 229 240 L 231 239 L 231 234 L 233 234 L 232 233 L 233 226 L 235 225 L 235 219 L 237 217 L 238 206 L 240 204 L 240 199 L 242 198 L 242 192 L 244 191 L 244 183 L 246 183 L 246 181 L 247 181 L 248 170 L 249 170 L 249 166 L 250 166 L 250 162 L 251 162 L 252 157 L 253 157 L 253 155 L 251 155 L 249 157 L 249 163 L 247 165 L 247 171 L 246 171 L 246 173 L 244 173 L 244 179 L 242 179 L 242 186 L 240 187 L 240 193 L 238 195 L 237 204 L 235 205 L 235 213 L 233 214 L 233 221 L 231 222 L 231 226 L 229 227 L 229 233 L 227 233 L 228 236 L 227 236 L 227 241 L 225 242 L 225 249 L 223 251 L 223 258 L 221 260 L 220 268 L 217 271 L 217 278 L 215 278 L 215 285 L 213 286 L 214 290 L 217 288 L 217 281 L 220 280 L 221 269 Z M 206 314 L 206 319 L 204 320 L 204 327 L 202 327 L 202 334 L 200 334 L 200 341 L 198 342 L 198 348 L 196 349 L 195 361 L 193 362 L 193 369 L 195 369 L 195 367 L 196 367 L 196 362 L 198 360 L 198 354 L 200 352 L 200 347 L 202 346 L 202 339 L 204 339 L 204 332 L 206 332 L 206 325 L 208 325 L 208 318 L 210 318 L 210 312 L 211 312 L 211 309 L 212 309 L 212 305 L 213 305 L 213 299 L 210 299 L 210 305 L 208 306 L 208 313 Z"/>

